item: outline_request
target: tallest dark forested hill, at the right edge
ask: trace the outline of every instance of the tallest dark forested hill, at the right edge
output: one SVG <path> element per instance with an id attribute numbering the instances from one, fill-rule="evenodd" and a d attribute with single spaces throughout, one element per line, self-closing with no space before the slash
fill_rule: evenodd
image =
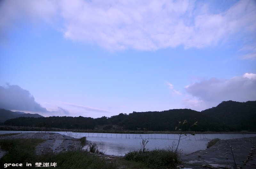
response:
<path id="1" fill-rule="evenodd" d="M 218 106 L 202 111 L 203 114 L 224 123 L 230 130 L 256 131 L 256 101 L 221 102 Z"/>

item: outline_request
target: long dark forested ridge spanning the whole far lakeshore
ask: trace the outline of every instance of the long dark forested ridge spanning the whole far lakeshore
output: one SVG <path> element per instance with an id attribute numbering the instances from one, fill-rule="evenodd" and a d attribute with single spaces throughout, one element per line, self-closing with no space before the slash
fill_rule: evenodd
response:
<path id="1" fill-rule="evenodd" d="M 191 109 L 172 109 L 154 112 L 133 112 L 129 115 L 120 113 L 111 117 L 19 117 L 9 119 L 4 125 L 53 127 L 61 129 L 103 130 L 151 130 L 172 131 L 178 122 L 188 121 L 184 130 L 194 131 L 256 131 L 256 101 L 222 102 L 211 109 L 198 112 Z M 198 126 L 190 126 L 198 122 Z"/>

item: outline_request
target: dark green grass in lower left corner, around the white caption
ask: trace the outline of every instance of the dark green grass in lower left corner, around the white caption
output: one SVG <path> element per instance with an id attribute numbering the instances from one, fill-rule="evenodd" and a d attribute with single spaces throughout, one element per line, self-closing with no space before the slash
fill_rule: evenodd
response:
<path id="1" fill-rule="evenodd" d="M 26 163 L 32 164 L 30 169 L 37 168 L 35 163 L 57 163 L 57 168 L 117 168 L 115 160 L 100 158 L 89 155 L 87 151 L 76 150 L 59 154 L 48 153 L 46 155 L 36 155 L 35 148 L 43 139 L 1 139 L 1 149 L 8 153 L 0 159 L 0 168 L 4 168 L 6 163 L 23 164 L 20 168 L 26 168 Z M 8 168 L 12 168 L 9 166 Z M 15 167 L 13 167 L 15 168 Z M 19 168 L 19 167 L 16 167 Z"/>

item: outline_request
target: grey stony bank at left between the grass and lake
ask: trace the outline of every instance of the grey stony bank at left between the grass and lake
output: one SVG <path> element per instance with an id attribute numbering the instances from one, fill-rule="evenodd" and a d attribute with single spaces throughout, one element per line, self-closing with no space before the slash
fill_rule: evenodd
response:
<path id="1" fill-rule="evenodd" d="M 46 141 L 36 146 L 36 154 L 42 155 L 46 153 L 60 153 L 62 151 L 82 149 L 80 141 L 76 138 L 61 135 L 59 133 L 19 133 L 17 135 L 0 137 L 0 139 L 15 139 L 15 138 L 41 138 Z M 0 150 L 0 155 L 5 154 Z M 0 157 L 1 158 L 1 157 Z"/>

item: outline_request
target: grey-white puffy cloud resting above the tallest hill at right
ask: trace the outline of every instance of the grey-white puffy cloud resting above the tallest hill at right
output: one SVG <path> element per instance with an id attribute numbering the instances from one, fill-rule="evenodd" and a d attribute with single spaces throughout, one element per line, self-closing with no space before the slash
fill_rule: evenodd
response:
<path id="1" fill-rule="evenodd" d="M 183 105 L 203 110 L 218 105 L 222 101 L 254 101 L 256 100 L 256 74 L 245 73 L 231 79 L 203 80 L 185 87 L 187 98 Z M 201 106 L 198 106 L 201 104 Z"/>

